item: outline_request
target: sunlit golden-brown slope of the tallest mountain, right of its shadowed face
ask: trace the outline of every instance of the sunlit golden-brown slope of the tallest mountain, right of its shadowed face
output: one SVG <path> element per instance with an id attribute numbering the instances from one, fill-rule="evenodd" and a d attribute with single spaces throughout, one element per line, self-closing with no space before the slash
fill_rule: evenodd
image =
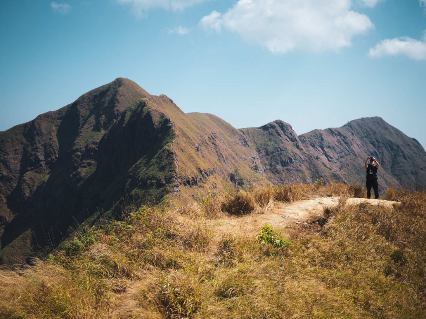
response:
<path id="1" fill-rule="evenodd" d="M 232 125 L 213 114 L 185 114 L 165 95 L 150 95 L 146 100 L 171 119 L 176 131 L 172 143 L 176 185 L 170 197 L 175 204 L 187 202 L 188 196 L 207 194 L 207 190 L 223 192 L 223 187 L 234 184 L 230 174 L 236 168 L 247 185 L 267 182 L 262 172 L 253 171 L 254 165 L 260 165 L 256 151 Z"/>

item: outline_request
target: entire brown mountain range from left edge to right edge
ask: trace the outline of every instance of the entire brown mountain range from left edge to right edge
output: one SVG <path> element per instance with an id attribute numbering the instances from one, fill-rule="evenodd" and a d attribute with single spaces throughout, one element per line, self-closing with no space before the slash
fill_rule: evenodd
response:
<path id="1" fill-rule="evenodd" d="M 426 184 L 423 147 L 380 117 L 300 136 L 280 120 L 236 129 L 118 78 L 0 132 L 0 258 L 25 259 L 128 202 L 182 204 L 233 184 L 363 183 L 368 154 L 382 190 Z"/>

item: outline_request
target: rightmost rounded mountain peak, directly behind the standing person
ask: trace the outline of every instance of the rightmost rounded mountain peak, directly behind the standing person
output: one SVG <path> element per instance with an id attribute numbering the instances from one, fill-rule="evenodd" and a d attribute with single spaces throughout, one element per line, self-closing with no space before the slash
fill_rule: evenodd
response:
<path id="1" fill-rule="evenodd" d="M 314 130 L 299 136 L 306 152 L 348 182 L 364 173 L 360 162 L 370 154 L 382 166 L 379 182 L 397 188 L 426 185 L 426 152 L 380 117 L 353 120 L 341 128 Z"/>

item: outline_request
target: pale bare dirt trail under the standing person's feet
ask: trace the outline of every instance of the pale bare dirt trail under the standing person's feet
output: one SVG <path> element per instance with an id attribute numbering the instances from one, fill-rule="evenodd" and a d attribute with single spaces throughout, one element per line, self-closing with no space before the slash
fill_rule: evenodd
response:
<path id="1" fill-rule="evenodd" d="M 271 224 L 277 231 L 283 231 L 286 227 L 298 227 L 303 225 L 309 216 L 321 214 L 325 206 L 337 205 L 338 199 L 338 197 L 318 197 L 294 203 L 275 203 L 273 208 L 265 214 L 227 216 L 216 221 L 216 225 L 213 226 L 214 233 L 216 238 L 227 233 L 252 237 L 258 234 L 265 224 Z M 350 205 L 360 202 L 388 207 L 399 204 L 389 200 L 366 198 L 348 198 L 347 203 Z M 296 222 L 300 223 L 296 224 Z"/>

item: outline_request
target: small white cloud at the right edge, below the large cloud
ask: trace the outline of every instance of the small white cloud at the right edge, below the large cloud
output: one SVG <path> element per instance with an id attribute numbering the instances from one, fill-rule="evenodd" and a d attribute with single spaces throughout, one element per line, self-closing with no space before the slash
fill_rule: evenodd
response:
<path id="1" fill-rule="evenodd" d="M 415 40 L 410 37 L 385 39 L 368 52 L 368 56 L 373 58 L 398 55 L 405 55 L 413 60 L 426 60 L 426 31 L 423 34 L 423 40 Z"/>

